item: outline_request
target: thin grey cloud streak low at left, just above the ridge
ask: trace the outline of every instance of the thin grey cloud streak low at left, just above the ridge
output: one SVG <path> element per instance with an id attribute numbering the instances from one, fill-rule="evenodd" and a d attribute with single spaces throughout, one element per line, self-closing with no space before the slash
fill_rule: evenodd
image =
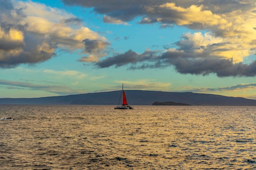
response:
<path id="1" fill-rule="evenodd" d="M 51 92 L 59 95 L 70 95 L 70 94 L 81 94 L 81 90 L 74 90 L 68 86 L 62 85 L 42 85 L 42 84 L 32 84 L 26 82 L 16 82 L 8 80 L 0 80 L 0 85 L 6 86 L 6 88 L 12 89 L 29 89 L 29 90 L 41 90 L 45 92 Z"/>

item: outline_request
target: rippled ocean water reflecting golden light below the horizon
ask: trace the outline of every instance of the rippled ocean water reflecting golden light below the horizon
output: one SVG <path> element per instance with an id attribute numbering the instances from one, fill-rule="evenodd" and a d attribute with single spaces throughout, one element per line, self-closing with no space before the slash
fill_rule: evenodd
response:
<path id="1" fill-rule="evenodd" d="M 0 105 L 0 169 L 256 169 L 256 107 L 134 107 Z"/>

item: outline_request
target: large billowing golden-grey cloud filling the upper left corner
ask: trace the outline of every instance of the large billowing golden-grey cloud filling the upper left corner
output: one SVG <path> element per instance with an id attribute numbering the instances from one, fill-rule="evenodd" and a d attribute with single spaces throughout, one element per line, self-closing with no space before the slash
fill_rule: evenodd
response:
<path id="1" fill-rule="evenodd" d="M 32 1 L 0 3 L 0 68 L 35 64 L 56 56 L 56 49 L 84 51 L 84 39 L 106 41 L 98 33 L 79 26 L 82 20 L 57 8 Z M 95 47 L 93 55 L 101 53 Z"/>

